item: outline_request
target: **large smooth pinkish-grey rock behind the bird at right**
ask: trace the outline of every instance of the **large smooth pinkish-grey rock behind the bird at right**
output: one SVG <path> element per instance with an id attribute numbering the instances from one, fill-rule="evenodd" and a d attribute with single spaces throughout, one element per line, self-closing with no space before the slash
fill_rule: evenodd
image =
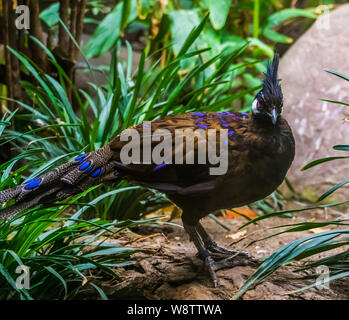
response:
<path id="1" fill-rule="evenodd" d="M 286 52 L 280 64 L 284 116 L 296 140 L 296 157 L 288 178 L 310 200 L 316 200 L 349 176 L 349 160 L 335 160 L 300 171 L 316 159 L 349 156 L 332 149 L 334 145 L 349 143 L 349 121 L 344 120 L 349 117 L 349 107 L 320 100 L 349 102 L 349 81 L 324 71 L 330 69 L 349 76 L 348 20 L 349 4 L 322 16 Z M 347 188 L 335 192 L 333 199 L 345 199 Z"/>

